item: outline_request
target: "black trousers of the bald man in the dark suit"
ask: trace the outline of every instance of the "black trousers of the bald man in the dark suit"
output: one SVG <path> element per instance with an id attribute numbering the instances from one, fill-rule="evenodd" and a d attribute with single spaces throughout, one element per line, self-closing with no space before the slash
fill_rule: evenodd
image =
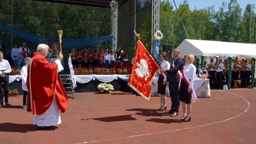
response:
<path id="1" fill-rule="evenodd" d="M 180 95 L 178 90 L 179 82 L 169 82 L 170 98 L 172 101 L 171 110 L 179 112 L 180 108 Z"/>

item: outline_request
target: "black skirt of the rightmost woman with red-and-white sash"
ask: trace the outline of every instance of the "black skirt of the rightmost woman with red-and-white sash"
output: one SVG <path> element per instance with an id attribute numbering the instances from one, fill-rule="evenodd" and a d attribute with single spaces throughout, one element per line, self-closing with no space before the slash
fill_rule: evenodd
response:
<path id="1" fill-rule="evenodd" d="M 182 79 L 180 86 L 180 101 L 184 101 L 185 103 L 191 103 L 191 94 L 192 92 L 188 93 L 188 86 Z"/>

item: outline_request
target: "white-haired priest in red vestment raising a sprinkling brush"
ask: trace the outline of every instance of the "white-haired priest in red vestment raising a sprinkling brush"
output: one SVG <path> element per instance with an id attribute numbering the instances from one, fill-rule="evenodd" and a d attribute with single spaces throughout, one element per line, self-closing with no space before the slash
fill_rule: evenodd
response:
<path id="1" fill-rule="evenodd" d="M 68 107 L 67 94 L 59 73 L 63 54 L 59 54 L 54 63 L 49 63 L 46 56 L 49 46 L 40 44 L 27 68 L 27 111 L 33 112 L 33 125 L 38 129 L 50 129 L 61 123 L 60 113 Z"/>

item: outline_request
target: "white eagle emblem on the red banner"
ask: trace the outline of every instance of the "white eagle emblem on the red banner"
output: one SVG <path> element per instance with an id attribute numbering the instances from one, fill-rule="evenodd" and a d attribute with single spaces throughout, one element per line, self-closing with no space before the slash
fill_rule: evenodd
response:
<path id="1" fill-rule="evenodd" d="M 145 59 L 140 59 L 140 63 L 136 63 L 137 67 L 135 72 L 138 77 L 143 78 L 145 76 L 145 80 L 149 77 L 148 65 Z"/>

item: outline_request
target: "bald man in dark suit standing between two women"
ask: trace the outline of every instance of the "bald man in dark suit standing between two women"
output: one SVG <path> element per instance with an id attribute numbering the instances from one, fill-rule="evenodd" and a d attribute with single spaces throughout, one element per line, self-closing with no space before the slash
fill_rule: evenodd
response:
<path id="1" fill-rule="evenodd" d="M 179 82 L 180 82 L 180 76 L 178 75 L 178 72 L 182 72 L 183 67 L 183 59 L 180 57 L 181 50 L 180 49 L 174 49 L 173 56 L 174 56 L 174 63 L 171 65 L 170 70 L 163 70 L 163 72 L 168 74 L 168 81 L 169 81 L 169 91 L 170 91 L 170 97 L 172 101 L 172 107 L 168 112 L 165 112 L 165 114 L 171 114 L 172 117 L 179 115 L 179 108 L 180 108 L 180 99 L 179 99 Z"/>

